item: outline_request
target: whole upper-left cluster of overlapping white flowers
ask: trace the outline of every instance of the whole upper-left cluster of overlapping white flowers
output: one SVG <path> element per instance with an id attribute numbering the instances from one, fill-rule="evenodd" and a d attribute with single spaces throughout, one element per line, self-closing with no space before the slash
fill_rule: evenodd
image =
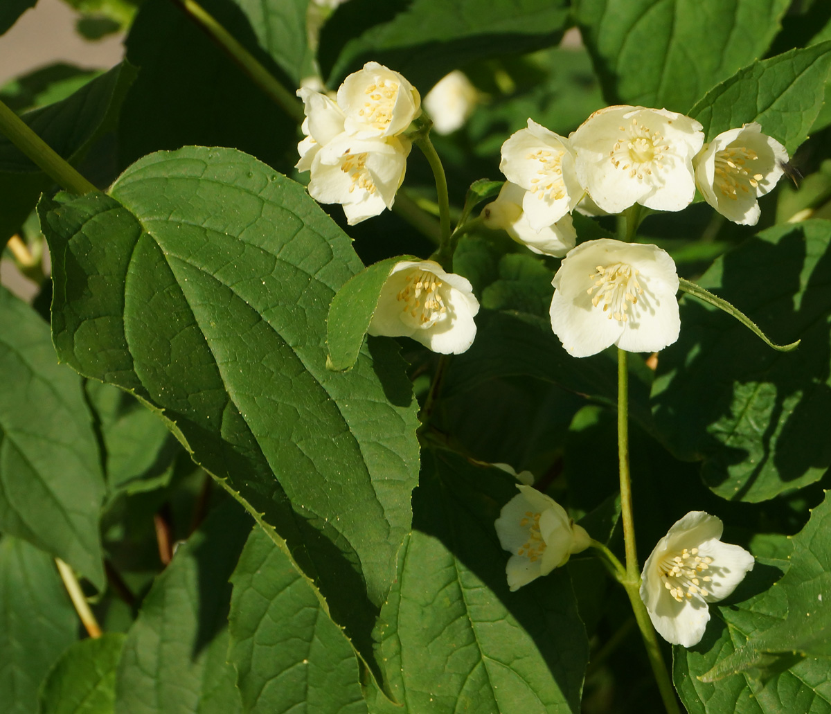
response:
<path id="1" fill-rule="evenodd" d="M 308 87 L 305 138 L 295 168 L 310 171 L 308 191 L 323 204 L 342 204 L 354 225 L 392 207 L 404 181 L 411 142 L 403 135 L 420 114 L 420 96 L 398 72 L 366 62 L 337 90 L 337 101 Z"/>

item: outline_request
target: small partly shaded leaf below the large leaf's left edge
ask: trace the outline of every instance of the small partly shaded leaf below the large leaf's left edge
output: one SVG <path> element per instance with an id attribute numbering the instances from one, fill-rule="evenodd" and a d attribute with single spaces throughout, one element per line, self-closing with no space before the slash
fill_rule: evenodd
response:
<path id="1" fill-rule="evenodd" d="M 106 452 L 109 499 L 168 485 L 181 448 L 165 422 L 134 396 L 108 384 L 86 382 L 86 394 Z"/>

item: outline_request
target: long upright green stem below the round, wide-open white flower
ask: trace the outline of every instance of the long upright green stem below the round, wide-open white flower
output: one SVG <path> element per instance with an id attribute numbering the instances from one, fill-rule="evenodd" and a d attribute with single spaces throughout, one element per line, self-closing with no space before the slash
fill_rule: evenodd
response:
<path id="1" fill-rule="evenodd" d="M 623 544 L 626 548 L 626 573 L 621 580 L 623 588 L 632 603 L 637 627 L 641 630 L 647 657 L 652 665 L 661 699 L 667 714 L 680 714 L 675 689 L 666 662 L 661 656 L 661 646 L 652 627 L 647 608 L 641 599 L 641 574 L 637 565 L 637 548 L 635 547 L 635 524 L 632 513 L 632 479 L 629 474 L 629 371 L 627 352 L 617 349 L 617 460 L 620 469 L 621 516 L 623 521 Z"/>

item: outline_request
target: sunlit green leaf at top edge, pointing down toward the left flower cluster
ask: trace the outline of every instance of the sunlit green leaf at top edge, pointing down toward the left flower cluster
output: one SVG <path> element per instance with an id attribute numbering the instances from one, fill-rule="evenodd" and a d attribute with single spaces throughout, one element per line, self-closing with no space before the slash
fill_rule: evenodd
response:
<path id="1" fill-rule="evenodd" d="M 294 86 L 313 74 L 306 26 L 309 0 L 233 0 L 248 17 L 259 46 L 291 77 Z M 289 86 L 288 89 L 293 89 Z"/>

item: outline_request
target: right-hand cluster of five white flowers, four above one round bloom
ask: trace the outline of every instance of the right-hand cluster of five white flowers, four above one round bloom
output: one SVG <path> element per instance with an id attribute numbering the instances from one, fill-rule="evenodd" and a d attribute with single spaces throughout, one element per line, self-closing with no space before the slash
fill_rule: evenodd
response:
<path id="1" fill-rule="evenodd" d="M 617 214 L 634 204 L 677 211 L 696 187 L 739 224 L 759 219 L 758 197 L 788 160 L 758 124 L 704 144 L 689 116 L 644 106 L 607 106 L 568 137 L 532 119 L 502 145 L 507 179 L 485 206 L 486 226 L 535 253 L 563 257 L 553 279 L 551 327 L 568 352 L 588 357 L 614 344 L 654 352 L 678 338 L 675 263 L 654 245 L 592 240 L 575 248 L 571 213 Z"/>

